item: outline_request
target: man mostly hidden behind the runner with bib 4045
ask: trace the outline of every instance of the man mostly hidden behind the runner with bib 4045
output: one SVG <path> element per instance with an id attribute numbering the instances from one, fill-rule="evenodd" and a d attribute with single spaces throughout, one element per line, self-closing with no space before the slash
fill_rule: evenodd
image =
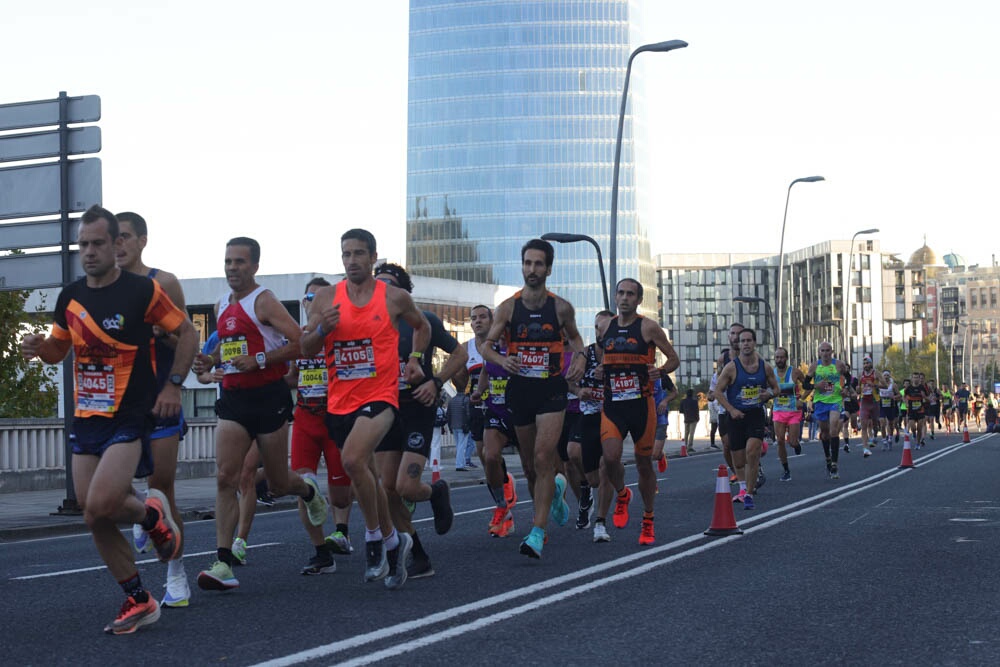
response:
<path id="1" fill-rule="evenodd" d="M 174 305 L 181 312 L 186 313 L 184 291 L 181 289 L 177 276 L 162 269 L 150 268 L 142 261 L 142 251 L 149 240 L 146 220 L 138 213 L 132 212 L 119 213 L 115 217 L 118 218 L 118 232 L 122 239 L 115 257 L 119 268 L 155 280 Z M 153 328 L 153 337 L 152 354 L 156 367 L 157 386 L 162 389 L 168 382 L 183 386 L 183 376 L 169 375 L 174 362 L 177 337 L 158 327 Z M 167 497 L 167 502 L 170 503 L 170 513 L 174 522 L 177 523 L 177 530 L 181 535 L 182 545 L 184 543 L 184 521 L 177 509 L 177 501 L 174 496 L 174 477 L 177 472 L 177 449 L 180 441 L 184 439 L 185 430 L 183 409 L 176 417 L 156 420 L 156 427 L 149 436 L 150 449 L 153 454 L 153 474 L 147 480 L 151 488 L 157 489 Z M 132 525 L 132 538 L 136 551 L 139 553 L 150 551 L 153 548 L 148 539 L 148 533 L 137 523 Z M 187 607 L 191 599 L 191 589 L 188 586 L 187 574 L 184 572 L 183 558 L 182 546 L 177 558 L 167 563 L 167 583 L 165 585 L 167 590 L 160 601 L 164 607 Z"/>

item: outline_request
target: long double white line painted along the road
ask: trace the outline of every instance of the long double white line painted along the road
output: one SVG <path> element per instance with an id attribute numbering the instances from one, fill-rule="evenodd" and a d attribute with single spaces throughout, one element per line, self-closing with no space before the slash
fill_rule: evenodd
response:
<path id="1" fill-rule="evenodd" d="M 940 458 L 942 456 L 947 456 L 948 454 L 954 453 L 954 452 L 958 451 L 961 446 L 964 446 L 964 444 L 965 443 L 960 443 L 959 445 L 956 445 L 956 446 L 954 446 L 954 447 L 952 447 L 952 448 L 950 448 L 948 450 L 942 450 L 941 452 L 938 452 L 938 455 L 935 456 L 934 458 Z M 762 513 L 760 515 L 757 515 L 755 517 L 748 518 L 747 520 L 745 520 L 743 522 L 744 524 L 756 523 L 756 522 L 762 521 L 764 519 L 767 519 L 768 517 L 772 517 L 772 516 L 774 516 L 776 514 L 782 514 L 782 516 L 777 516 L 777 517 L 772 518 L 772 519 L 770 519 L 768 521 L 765 521 L 764 523 L 760 524 L 759 526 L 753 526 L 751 528 L 745 529 L 744 530 L 744 535 L 752 534 L 754 532 L 761 531 L 761 530 L 764 530 L 766 528 L 771 528 L 772 526 L 776 526 L 776 525 L 778 525 L 780 523 L 784 523 L 785 521 L 788 521 L 790 519 L 797 518 L 799 516 L 803 516 L 803 515 L 809 514 L 811 512 L 815 512 L 815 511 L 817 511 L 817 510 L 819 510 L 819 509 L 821 509 L 823 507 L 826 507 L 827 505 L 833 504 L 835 502 L 839 502 L 839 501 L 841 501 L 841 500 L 843 500 L 845 498 L 849 498 L 849 497 L 851 497 L 853 495 L 861 493 L 862 491 L 867 491 L 867 490 L 869 490 L 869 489 L 871 489 L 871 488 L 873 488 L 875 486 L 878 486 L 880 484 L 888 482 L 891 479 L 895 479 L 898 476 L 910 474 L 912 471 L 913 471 L 913 469 L 911 469 L 911 468 L 903 468 L 903 469 L 892 468 L 892 469 L 889 469 L 889 470 L 886 470 L 886 471 L 883 471 L 881 473 L 877 473 L 877 474 L 873 475 L 872 477 L 869 478 L 870 481 L 864 481 L 863 480 L 863 481 L 859 481 L 859 482 L 854 482 L 853 484 L 848 484 L 848 485 L 845 485 L 845 486 L 840 486 L 840 487 L 837 487 L 837 488 L 835 488 L 835 489 L 833 489 L 831 491 L 827 491 L 827 492 L 818 494 L 816 496 L 812 496 L 811 498 L 805 498 L 805 499 L 803 499 L 801 501 L 798 501 L 796 503 L 793 503 L 791 505 L 786 505 L 784 508 L 782 508 L 780 510 L 777 510 L 777 509 L 776 510 L 771 510 L 769 512 L 764 512 L 764 513 Z M 835 495 L 835 497 L 828 498 L 828 496 L 831 496 L 831 495 Z M 823 499 L 823 498 L 827 498 L 827 499 L 823 500 L 822 502 L 816 503 L 817 500 L 820 500 L 820 499 Z M 808 507 L 804 507 L 802 509 L 798 509 L 798 510 L 796 510 L 794 512 L 785 513 L 788 509 L 791 509 L 791 508 L 794 508 L 794 507 L 801 507 L 802 505 L 806 505 L 806 504 L 808 504 L 809 506 Z M 670 542 L 669 544 L 664 544 L 664 545 L 659 546 L 659 547 L 653 547 L 652 549 L 648 549 L 648 550 L 644 550 L 644 551 L 641 551 L 641 552 L 638 552 L 638 553 L 630 554 L 628 556 L 623 556 L 621 558 L 617 558 L 617 559 L 612 560 L 612 561 L 601 563 L 600 565 L 594 565 L 594 566 L 591 566 L 591 567 L 588 567 L 588 568 L 584 568 L 583 570 L 578 570 L 578 571 L 573 572 L 573 573 L 561 575 L 559 577 L 555 577 L 553 579 L 548 579 L 546 581 L 538 582 L 538 583 L 532 584 L 530 586 L 525 586 L 525 587 L 522 587 L 522 588 L 519 588 L 519 589 L 514 589 L 514 590 L 511 590 L 511 591 L 507 591 L 506 593 L 502 593 L 500 595 L 494 595 L 494 596 L 491 596 L 491 597 L 488 597 L 488 598 L 483 598 L 482 600 L 478 600 L 476 602 L 470 602 L 470 603 L 467 603 L 467 604 L 464 604 L 464 605 L 459 605 L 458 607 L 453 607 L 451 609 L 446 609 L 444 611 L 440 611 L 440 612 L 431 614 L 430 616 L 424 617 L 424 618 L 422 618 L 420 620 L 407 621 L 407 622 L 404 622 L 404 623 L 398 623 L 398 624 L 393 625 L 392 627 L 380 628 L 380 629 L 375 630 L 373 632 L 367 632 L 367 633 L 364 633 L 364 634 L 355 635 L 354 637 L 349 637 L 347 639 L 344 639 L 344 640 L 341 640 L 341 641 L 338 641 L 338 642 L 333 642 L 333 643 L 330 643 L 330 644 L 325 644 L 323 646 L 317 646 L 317 647 L 312 648 L 312 649 L 307 649 L 305 651 L 300 651 L 300 652 L 297 652 L 297 653 L 293 653 L 293 654 L 290 654 L 290 655 L 287 655 L 287 656 L 282 656 L 282 657 L 279 657 L 279 658 L 274 658 L 273 660 L 268 660 L 266 662 L 259 663 L 259 665 L 257 667 L 285 667 L 287 665 L 296 665 L 296 664 L 300 664 L 300 663 L 303 663 L 303 662 L 308 662 L 308 661 L 311 661 L 311 660 L 317 660 L 317 659 L 320 659 L 320 658 L 329 657 L 331 655 L 335 655 L 335 654 L 338 654 L 338 653 L 342 653 L 344 651 L 349 651 L 349 650 L 352 650 L 352 649 L 356 649 L 356 648 L 359 648 L 359 647 L 364 646 L 366 644 L 371 644 L 371 643 L 376 642 L 376 641 L 383 641 L 383 640 L 388 639 L 389 637 L 392 637 L 392 636 L 395 636 L 395 635 L 399 635 L 399 634 L 403 634 L 403 633 L 407 633 L 407 632 L 412 632 L 414 630 L 419 630 L 421 628 L 424 628 L 424 627 L 427 627 L 427 626 L 430 626 L 430 625 L 433 625 L 433 624 L 436 624 L 436 623 L 441 623 L 441 622 L 446 622 L 446 621 L 453 621 L 453 620 L 455 620 L 455 619 L 457 619 L 457 618 L 459 618 L 459 617 L 461 617 L 461 616 L 463 616 L 465 614 L 480 613 L 480 612 L 484 611 L 485 609 L 487 609 L 488 607 L 492 607 L 492 606 L 495 606 L 495 605 L 498 605 L 498 604 L 502 604 L 502 603 L 508 602 L 510 600 L 514 600 L 516 598 L 524 597 L 526 595 L 537 594 L 537 593 L 539 593 L 541 591 L 544 591 L 544 590 L 547 590 L 549 588 L 553 588 L 555 586 L 559 586 L 559 585 L 562 585 L 564 583 L 569 583 L 569 582 L 572 582 L 572 581 L 575 581 L 577 579 L 581 579 L 581 578 L 584 578 L 584 577 L 590 577 L 591 575 L 601 575 L 605 571 L 607 571 L 608 569 L 613 569 L 613 568 L 618 567 L 618 566 L 627 565 L 629 563 L 632 563 L 633 561 L 646 559 L 646 558 L 648 558 L 650 556 L 655 556 L 656 554 L 663 553 L 665 551 L 669 551 L 671 549 L 675 549 L 675 548 L 680 547 L 680 546 L 686 546 L 686 545 L 691 544 L 693 542 L 700 542 L 700 541 L 704 541 L 704 540 L 707 540 L 707 539 L 709 539 L 709 538 L 706 538 L 704 535 L 702 535 L 700 533 L 696 534 L 696 535 L 690 535 L 688 537 L 681 538 L 679 540 L 674 540 L 673 542 Z M 693 556 L 693 555 L 696 555 L 696 554 L 699 554 L 699 553 L 703 553 L 705 551 L 708 551 L 709 549 L 717 548 L 719 546 L 722 546 L 723 544 L 727 544 L 730 541 L 736 540 L 736 539 L 740 539 L 740 536 L 739 535 L 734 535 L 732 537 L 714 538 L 714 539 L 708 541 L 705 544 L 700 544 L 700 545 L 698 545 L 696 547 L 687 549 L 687 550 L 682 551 L 680 553 L 672 554 L 670 556 L 667 556 L 666 558 L 662 558 L 662 559 L 659 559 L 659 560 L 655 560 L 655 561 L 652 561 L 652 562 L 649 562 L 649 563 L 642 564 L 642 565 L 640 565 L 638 567 L 632 568 L 631 570 L 625 570 L 623 572 L 620 572 L 620 573 L 617 573 L 617 574 L 614 574 L 614 575 L 610 575 L 610 576 L 605 576 L 605 577 L 598 578 L 598 579 L 591 579 L 591 580 L 587 581 L 585 584 L 576 586 L 575 588 L 567 589 L 565 591 L 552 594 L 552 595 L 550 595 L 548 597 L 540 598 L 538 600 L 534 600 L 534 601 L 532 601 L 530 603 L 521 605 L 519 607 L 514 607 L 514 608 L 511 608 L 511 609 L 508 609 L 508 610 L 501 610 L 501 611 L 498 611 L 498 612 L 493 612 L 488 617 L 476 619 L 476 620 L 473 620 L 473 621 L 462 621 L 459 625 L 456 625 L 456 626 L 454 626 L 452 628 L 441 630 L 439 632 L 432 633 L 430 635 L 426 635 L 426 636 L 418 638 L 418 639 L 407 640 L 406 644 L 404 644 L 404 645 L 392 646 L 392 647 L 383 649 L 381 651 L 378 651 L 376 653 L 366 654 L 363 657 L 356 658 L 356 659 L 351 660 L 349 662 L 338 663 L 338 664 L 342 664 L 342 665 L 366 665 L 366 664 L 369 664 L 369 663 L 374 662 L 376 660 L 384 660 L 386 658 L 391 658 L 391 657 L 399 656 L 399 655 L 405 654 L 407 652 L 410 652 L 410 651 L 412 651 L 412 650 L 414 650 L 416 648 L 420 648 L 420 647 L 423 647 L 423 646 L 429 646 L 431 644 L 438 643 L 438 642 L 444 641 L 444 640 L 452 638 L 452 637 L 456 637 L 456 636 L 458 636 L 458 635 L 460 635 L 460 634 L 462 634 L 464 632 L 468 632 L 469 630 L 477 629 L 477 628 L 480 628 L 480 627 L 486 627 L 486 626 L 491 625 L 493 623 L 496 623 L 496 622 L 498 622 L 500 620 L 504 620 L 506 618 L 510 618 L 510 617 L 517 616 L 517 615 L 520 615 L 520 614 L 524 614 L 524 613 L 527 613 L 529 611 L 534 611 L 534 610 L 539 609 L 539 608 L 541 608 L 541 607 L 543 607 L 545 605 L 552 604 L 554 602 L 558 602 L 558 601 L 564 600 L 564 599 L 566 599 L 568 597 L 572 597 L 572 596 L 575 596 L 575 595 L 578 595 L 578 594 L 581 594 L 581 593 L 584 593 L 584 592 L 591 591 L 591 590 L 593 590 L 593 589 L 595 589 L 595 588 L 597 588 L 599 586 L 604 586 L 606 584 L 613 583 L 615 581 L 620 581 L 620 580 L 623 580 L 623 579 L 628 579 L 628 578 L 631 578 L 631 577 L 634 577 L 634 576 L 638 576 L 638 575 L 643 574 L 645 572 L 648 572 L 648 571 L 650 571 L 650 570 L 652 570 L 652 569 L 654 569 L 656 567 L 660 567 L 662 565 L 672 563 L 672 562 L 674 562 L 676 560 L 680 560 L 681 558 L 687 558 L 689 556 Z"/>

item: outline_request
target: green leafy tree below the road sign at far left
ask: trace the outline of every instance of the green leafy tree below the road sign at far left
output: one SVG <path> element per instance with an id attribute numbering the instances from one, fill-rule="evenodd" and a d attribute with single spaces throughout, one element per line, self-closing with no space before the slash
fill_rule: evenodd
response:
<path id="1" fill-rule="evenodd" d="M 57 368 L 21 356 L 21 339 L 45 332 L 40 313 L 24 312 L 29 294 L 27 290 L 0 291 L 0 418 L 57 414 Z"/>

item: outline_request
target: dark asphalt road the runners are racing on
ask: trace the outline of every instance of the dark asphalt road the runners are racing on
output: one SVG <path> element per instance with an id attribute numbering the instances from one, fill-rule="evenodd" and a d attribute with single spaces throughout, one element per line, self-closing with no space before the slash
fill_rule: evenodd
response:
<path id="1" fill-rule="evenodd" d="M 482 487 L 456 489 L 456 520 L 416 517 L 436 576 L 399 591 L 362 582 L 362 528 L 338 571 L 304 577 L 297 516 L 262 514 L 241 586 L 195 589 L 135 635 L 101 632 L 121 593 L 87 536 L 0 545 L 3 662 L 128 664 L 1000 664 L 1000 437 L 939 438 L 899 470 L 900 452 L 841 455 L 826 478 L 806 445 L 779 482 L 776 452 L 757 509 L 734 505 L 742 536 L 709 538 L 721 455 L 671 460 L 660 477 L 657 544 L 639 547 L 638 496 L 624 530 L 594 544 L 550 528 L 543 559 L 486 533 Z M 635 472 L 628 468 L 628 481 Z M 570 500 L 575 510 L 575 502 Z M 609 522 L 610 524 L 610 522 Z M 191 581 L 214 559 L 214 524 L 188 524 Z M 165 566 L 146 561 L 159 592 Z"/>

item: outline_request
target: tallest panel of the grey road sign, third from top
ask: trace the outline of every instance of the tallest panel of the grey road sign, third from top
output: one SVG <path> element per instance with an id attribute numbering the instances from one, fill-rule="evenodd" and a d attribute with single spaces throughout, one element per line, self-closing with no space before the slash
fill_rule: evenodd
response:
<path id="1" fill-rule="evenodd" d="M 69 162 L 69 210 L 85 211 L 101 201 L 101 160 Z M 0 220 L 60 213 L 59 164 L 0 169 Z"/>

